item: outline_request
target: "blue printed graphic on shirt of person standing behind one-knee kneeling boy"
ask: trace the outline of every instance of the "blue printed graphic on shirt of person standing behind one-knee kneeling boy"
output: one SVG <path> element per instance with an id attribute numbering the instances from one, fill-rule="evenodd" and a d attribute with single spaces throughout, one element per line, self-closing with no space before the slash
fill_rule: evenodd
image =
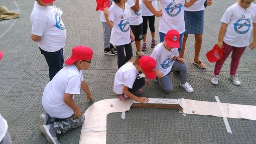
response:
<path id="1" fill-rule="evenodd" d="M 165 8 L 166 13 L 171 17 L 175 17 L 179 15 L 183 7 L 181 3 L 180 4 L 176 4 L 176 3 L 177 2 L 173 1 L 167 6 L 167 8 Z"/>

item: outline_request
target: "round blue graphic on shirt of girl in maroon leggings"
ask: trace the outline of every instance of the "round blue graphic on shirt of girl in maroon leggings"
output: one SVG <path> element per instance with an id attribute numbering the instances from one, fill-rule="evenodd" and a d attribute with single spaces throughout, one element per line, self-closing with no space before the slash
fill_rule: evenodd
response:
<path id="1" fill-rule="evenodd" d="M 242 15 L 241 17 L 241 19 L 237 20 L 234 23 L 234 30 L 238 34 L 245 34 L 250 30 L 251 23 L 245 15 Z"/>

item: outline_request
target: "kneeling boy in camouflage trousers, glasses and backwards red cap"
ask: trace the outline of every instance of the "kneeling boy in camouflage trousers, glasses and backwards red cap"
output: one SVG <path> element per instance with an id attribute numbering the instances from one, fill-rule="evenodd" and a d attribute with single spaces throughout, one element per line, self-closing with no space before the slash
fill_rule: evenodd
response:
<path id="1" fill-rule="evenodd" d="M 89 47 L 73 48 L 71 57 L 65 61 L 67 66 L 61 69 L 44 89 L 42 105 L 47 114 L 40 115 L 38 128 L 50 143 L 58 143 L 56 134 L 65 133 L 83 124 L 84 114 L 73 98 L 75 94 L 80 94 L 81 87 L 87 95 L 87 100 L 93 101 L 81 71 L 89 68 L 91 59 L 92 49 Z"/>

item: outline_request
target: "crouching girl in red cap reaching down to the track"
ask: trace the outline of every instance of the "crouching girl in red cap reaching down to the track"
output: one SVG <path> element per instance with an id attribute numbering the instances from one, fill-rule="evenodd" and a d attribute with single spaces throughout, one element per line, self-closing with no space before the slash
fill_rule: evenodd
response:
<path id="1" fill-rule="evenodd" d="M 150 85 L 142 73 L 148 79 L 154 79 L 156 77 L 155 68 L 156 61 L 152 57 L 138 54 L 135 60 L 125 63 L 115 73 L 113 91 L 120 94 L 119 99 L 121 100 L 131 97 L 142 103 L 149 101 L 146 97 L 137 97 L 134 94 L 141 94 L 143 92 L 141 88 L 145 83 Z"/>

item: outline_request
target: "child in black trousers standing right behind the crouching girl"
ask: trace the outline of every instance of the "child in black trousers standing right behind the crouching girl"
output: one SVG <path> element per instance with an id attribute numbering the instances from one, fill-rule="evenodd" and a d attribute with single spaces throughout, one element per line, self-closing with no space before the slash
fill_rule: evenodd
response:
<path id="1" fill-rule="evenodd" d="M 128 18 L 131 13 L 125 3 L 126 0 L 114 0 L 114 4 L 109 9 L 104 9 L 106 23 L 112 29 L 110 43 L 115 45 L 117 50 L 118 69 L 133 57 L 131 41 L 135 39 Z"/>

